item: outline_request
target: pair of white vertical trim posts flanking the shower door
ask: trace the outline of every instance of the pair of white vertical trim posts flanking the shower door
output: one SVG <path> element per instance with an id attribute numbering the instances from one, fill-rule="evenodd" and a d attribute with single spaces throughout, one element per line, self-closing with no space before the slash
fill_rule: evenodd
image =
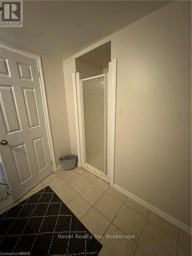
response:
<path id="1" fill-rule="evenodd" d="M 117 59 L 109 62 L 108 74 L 108 144 L 107 144 L 107 165 L 108 175 L 110 176 L 110 185 L 114 186 L 114 164 L 115 164 L 115 116 L 116 116 L 116 78 L 117 78 Z M 78 105 L 78 92 L 80 88 L 80 75 L 73 73 L 73 93 L 75 104 L 75 123 L 76 123 L 76 136 L 77 136 L 77 153 L 78 153 L 78 166 L 81 167 L 82 159 L 82 146 L 80 144 L 80 134 L 82 134 L 82 118 L 80 117 Z M 97 175 L 97 173 L 95 173 Z M 98 175 L 97 175 L 98 176 Z M 98 176 L 99 177 L 99 176 Z"/>

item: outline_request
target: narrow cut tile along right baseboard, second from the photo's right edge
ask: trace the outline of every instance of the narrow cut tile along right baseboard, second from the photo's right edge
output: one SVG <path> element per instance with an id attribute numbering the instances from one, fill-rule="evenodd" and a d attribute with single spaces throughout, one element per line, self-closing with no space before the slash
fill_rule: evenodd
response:
<path id="1" fill-rule="evenodd" d="M 153 212 L 150 211 L 148 215 L 148 220 L 153 222 L 158 227 L 162 228 L 167 233 L 171 234 L 176 239 L 179 238 L 179 228 L 175 227 L 174 225 L 170 224 L 169 222 L 165 221 L 161 217 L 157 216 Z"/>

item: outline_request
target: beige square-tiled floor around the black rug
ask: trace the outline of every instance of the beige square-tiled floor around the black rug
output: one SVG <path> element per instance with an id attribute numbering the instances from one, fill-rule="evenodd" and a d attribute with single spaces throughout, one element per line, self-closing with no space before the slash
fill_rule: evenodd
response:
<path id="1" fill-rule="evenodd" d="M 79 167 L 52 173 L 0 214 L 48 185 L 98 235 L 100 256 L 191 255 L 191 236 Z"/>

